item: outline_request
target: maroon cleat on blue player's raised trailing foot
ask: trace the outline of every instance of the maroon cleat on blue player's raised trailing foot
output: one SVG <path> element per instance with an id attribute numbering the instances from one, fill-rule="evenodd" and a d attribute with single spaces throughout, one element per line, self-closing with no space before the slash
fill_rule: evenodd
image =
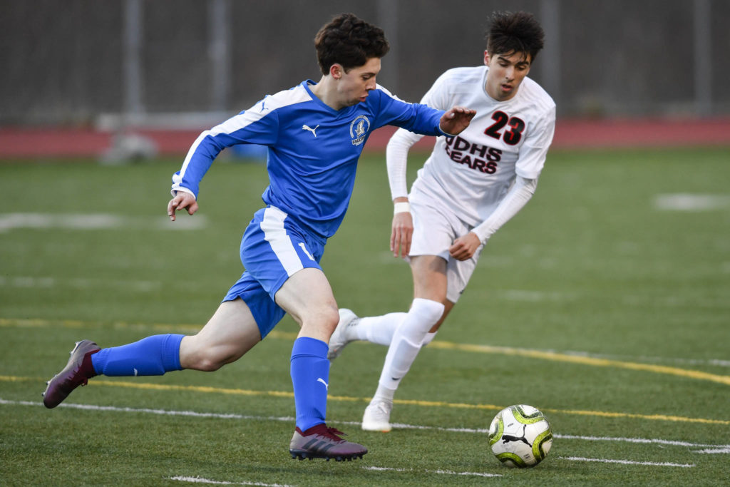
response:
<path id="1" fill-rule="evenodd" d="M 47 408 L 56 407 L 66 399 L 78 386 L 85 386 L 91 377 L 96 375 L 91 364 L 91 356 L 101 350 L 99 345 L 91 340 L 76 342 L 71 350 L 71 358 L 61 372 L 47 382 L 48 386 L 43 393 L 43 404 Z"/>

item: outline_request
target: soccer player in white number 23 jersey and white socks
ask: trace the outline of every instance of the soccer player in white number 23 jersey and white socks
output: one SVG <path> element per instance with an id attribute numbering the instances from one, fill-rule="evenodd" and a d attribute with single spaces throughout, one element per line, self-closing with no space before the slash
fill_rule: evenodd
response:
<path id="1" fill-rule="evenodd" d="M 431 156 L 406 188 L 406 158 L 420 135 L 403 129 L 388 142 L 388 178 L 395 204 L 393 256 L 409 256 L 410 310 L 358 318 L 339 310 L 329 342 L 335 358 L 353 340 L 388 345 L 377 391 L 362 428 L 391 430 L 393 396 L 423 345 L 433 340 L 464 291 L 488 239 L 531 198 L 553 139 L 555 103 L 527 77 L 543 31 L 525 12 L 496 12 L 484 66 L 450 69 L 421 101 L 477 110 L 458 137 L 438 137 Z"/>

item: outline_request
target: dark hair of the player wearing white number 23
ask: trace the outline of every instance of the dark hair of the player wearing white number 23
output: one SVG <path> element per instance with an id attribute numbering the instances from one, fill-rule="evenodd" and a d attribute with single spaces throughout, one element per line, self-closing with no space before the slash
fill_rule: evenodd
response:
<path id="1" fill-rule="evenodd" d="M 545 31 L 531 13 L 494 12 L 486 38 L 490 54 L 523 53 L 534 61 L 542 49 Z"/>

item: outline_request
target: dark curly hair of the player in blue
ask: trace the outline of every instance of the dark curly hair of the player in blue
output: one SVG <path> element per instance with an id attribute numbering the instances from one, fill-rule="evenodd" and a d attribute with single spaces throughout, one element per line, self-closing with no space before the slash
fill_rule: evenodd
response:
<path id="1" fill-rule="evenodd" d="M 317 62 L 322 74 L 342 64 L 345 71 L 363 66 L 369 58 L 382 58 L 391 48 L 385 32 L 353 14 L 340 14 L 320 28 L 315 36 Z"/>

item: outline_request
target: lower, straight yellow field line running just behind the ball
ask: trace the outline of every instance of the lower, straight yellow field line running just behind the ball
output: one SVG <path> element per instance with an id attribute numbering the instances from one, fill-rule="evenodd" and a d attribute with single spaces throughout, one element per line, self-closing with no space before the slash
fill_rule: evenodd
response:
<path id="1" fill-rule="evenodd" d="M 43 382 L 39 377 L 17 377 L 12 375 L 0 375 L 0 382 Z M 117 388 L 132 388 L 145 391 L 191 391 L 204 394 L 233 394 L 237 396 L 272 396 L 293 399 L 294 394 L 290 391 L 252 391 L 250 389 L 230 389 L 210 386 L 175 386 L 169 384 L 154 384 L 147 382 L 127 382 L 123 380 L 104 380 L 94 379 L 89 382 L 89 386 L 107 386 Z M 352 397 L 352 396 L 328 396 L 328 400 L 337 402 L 370 402 L 369 397 Z M 419 401 L 416 399 L 394 399 L 395 404 L 407 404 L 420 407 L 447 407 L 455 409 L 472 409 L 472 410 L 494 410 L 504 409 L 504 406 L 495 404 L 465 404 L 461 402 L 444 402 L 444 401 Z M 661 414 L 634 414 L 634 413 L 610 413 L 607 411 L 585 411 L 585 410 L 559 410 L 542 408 L 545 413 L 595 416 L 599 418 L 630 418 L 645 419 L 650 421 L 675 421 L 678 423 L 704 423 L 704 424 L 721 424 L 730 425 L 730 421 L 721 419 L 707 418 L 685 418 L 683 416 L 669 416 Z"/>

